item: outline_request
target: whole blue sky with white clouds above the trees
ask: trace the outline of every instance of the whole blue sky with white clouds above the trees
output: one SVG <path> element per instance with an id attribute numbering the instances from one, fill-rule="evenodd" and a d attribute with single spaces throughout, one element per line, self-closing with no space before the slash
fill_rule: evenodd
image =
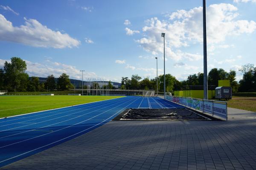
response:
<path id="1" fill-rule="evenodd" d="M 103 78 L 163 74 L 179 80 L 203 71 L 202 0 L 2 0 L 0 67 L 11 57 L 30 76 Z M 208 71 L 256 64 L 256 0 L 207 0 Z M 237 72 L 237 80 L 241 79 Z"/>

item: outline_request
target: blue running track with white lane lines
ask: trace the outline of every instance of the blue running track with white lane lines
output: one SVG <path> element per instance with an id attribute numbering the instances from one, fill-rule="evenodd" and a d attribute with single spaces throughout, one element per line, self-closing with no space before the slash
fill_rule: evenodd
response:
<path id="1" fill-rule="evenodd" d="M 158 97 L 127 96 L 0 119 L 0 167 L 111 121 L 126 108 L 183 108 Z"/>

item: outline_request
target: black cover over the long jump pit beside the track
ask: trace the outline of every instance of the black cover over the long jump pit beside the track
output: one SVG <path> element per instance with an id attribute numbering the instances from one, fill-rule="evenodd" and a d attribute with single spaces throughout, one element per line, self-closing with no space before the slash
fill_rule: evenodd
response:
<path id="1" fill-rule="evenodd" d="M 186 108 L 126 109 L 113 120 L 211 120 Z"/>

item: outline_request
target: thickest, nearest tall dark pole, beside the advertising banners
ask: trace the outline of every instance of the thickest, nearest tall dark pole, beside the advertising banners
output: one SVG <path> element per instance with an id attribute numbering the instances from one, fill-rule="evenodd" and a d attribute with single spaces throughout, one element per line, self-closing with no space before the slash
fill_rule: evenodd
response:
<path id="1" fill-rule="evenodd" d="M 205 0 L 203 0 L 203 30 L 204 30 L 204 99 L 208 100 L 207 43 L 206 43 L 206 3 L 205 3 Z"/>

